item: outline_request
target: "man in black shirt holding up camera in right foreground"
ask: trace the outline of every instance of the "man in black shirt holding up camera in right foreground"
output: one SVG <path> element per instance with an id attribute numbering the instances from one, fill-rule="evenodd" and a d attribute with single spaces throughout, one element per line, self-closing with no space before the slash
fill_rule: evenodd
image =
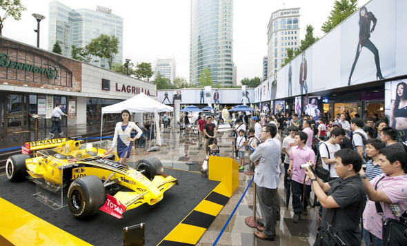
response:
<path id="1" fill-rule="evenodd" d="M 359 223 L 366 203 L 364 184 L 358 175 L 361 157 L 354 150 L 339 150 L 335 152 L 335 170 L 339 178 L 324 183 L 306 167 L 312 188 L 325 208 L 314 245 L 361 245 Z"/>

